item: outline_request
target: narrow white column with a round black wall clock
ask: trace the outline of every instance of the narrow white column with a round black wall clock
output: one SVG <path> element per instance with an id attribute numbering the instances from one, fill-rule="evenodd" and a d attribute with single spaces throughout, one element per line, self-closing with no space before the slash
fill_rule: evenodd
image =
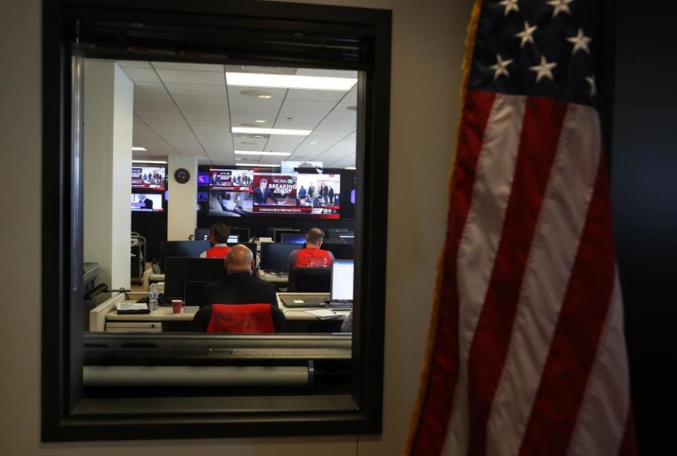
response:
<path id="1" fill-rule="evenodd" d="M 198 160 L 196 157 L 170 155 L 167 164 L 169 201 L 167 203 L 167 241 L 187 241 L 198 227 Z M 174 179 L 176 169 L 191 173 L 191 180 L 179 184 Z"/>

